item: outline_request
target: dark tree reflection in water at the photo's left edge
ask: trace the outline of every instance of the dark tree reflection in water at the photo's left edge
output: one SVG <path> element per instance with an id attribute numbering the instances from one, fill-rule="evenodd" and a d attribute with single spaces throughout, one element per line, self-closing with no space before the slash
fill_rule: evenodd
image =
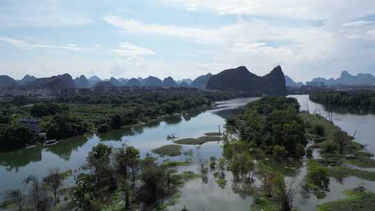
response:
<path id="1" fill-rule="evenodd" d="M 42 160 L 43 146 L 38 145 L 32 149 L 21 149 L 9 153 L 0 153 L 0 165 L 6 167 L 6 171 L 17 172 L 19 167 L 24 167 L 31 162 Z"/>

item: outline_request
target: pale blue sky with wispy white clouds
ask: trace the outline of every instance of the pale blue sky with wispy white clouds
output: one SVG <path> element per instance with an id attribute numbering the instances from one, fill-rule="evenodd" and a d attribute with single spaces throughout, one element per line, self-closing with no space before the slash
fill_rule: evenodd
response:
<path id="1" fill-rule="evenodd" d="M 0 75 L 375 74 L 373 0 L 1 0 Z"/>

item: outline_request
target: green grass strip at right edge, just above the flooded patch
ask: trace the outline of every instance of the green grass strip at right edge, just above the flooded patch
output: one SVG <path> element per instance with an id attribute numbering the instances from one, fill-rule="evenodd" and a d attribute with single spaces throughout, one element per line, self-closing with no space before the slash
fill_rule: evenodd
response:
<path id="1" fill-rule="evenodd" d="M 356 176 L 363 180 L 375 181 L 374 171 L 363 171 L 360 169 L 352 169 L 348 167 L 333 167 L 331 169 L 331 176 L 334 178 L 347 178 L 349 176 Z"/>

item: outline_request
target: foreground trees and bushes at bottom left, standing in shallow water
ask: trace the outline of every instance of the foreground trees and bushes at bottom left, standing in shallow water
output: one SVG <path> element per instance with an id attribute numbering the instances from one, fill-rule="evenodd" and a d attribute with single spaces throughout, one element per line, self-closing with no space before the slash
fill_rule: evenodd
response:
<path id="1" fill-rule="evenodd" d="M 83 171 L 60 172 L 51 169 L 40 180 L 28 176 L 23 183 L 28 190 L 10 189 L 4 193 L 0 208 L 14 210 L 153 210 L 160 208 L 178 187 L 197 175 L 191 171 L 176 173 L 179 163 L 158 164 L 149 155 L 124 145 L 113 149 L 94 146 Z M 185 163 L 184 163 L 185 164 Z M 74 174 L 75 185 L 64 188 L 64 180 Z"/>

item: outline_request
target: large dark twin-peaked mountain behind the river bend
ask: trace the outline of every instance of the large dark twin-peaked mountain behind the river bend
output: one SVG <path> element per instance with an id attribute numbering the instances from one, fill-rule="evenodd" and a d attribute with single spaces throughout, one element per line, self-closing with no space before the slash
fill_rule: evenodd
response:
<path id="1" fill-rule="evenodd" d="M 242 91 L 252 94 L 286 94 L 285 76 L 280 66 L 265 76 L 257 76 L 246 67 L 226 69 L 208 80 L 209 90 Z"/>

